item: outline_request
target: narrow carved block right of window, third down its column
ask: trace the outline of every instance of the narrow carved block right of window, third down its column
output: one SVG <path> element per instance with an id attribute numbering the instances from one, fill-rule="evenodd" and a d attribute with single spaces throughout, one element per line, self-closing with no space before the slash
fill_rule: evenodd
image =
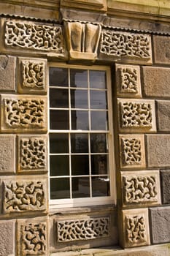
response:
<path id="1" fill-rule="evenodd" d="M 144 135 L 120 135 L 120 168 L 145 167 Z"/>

